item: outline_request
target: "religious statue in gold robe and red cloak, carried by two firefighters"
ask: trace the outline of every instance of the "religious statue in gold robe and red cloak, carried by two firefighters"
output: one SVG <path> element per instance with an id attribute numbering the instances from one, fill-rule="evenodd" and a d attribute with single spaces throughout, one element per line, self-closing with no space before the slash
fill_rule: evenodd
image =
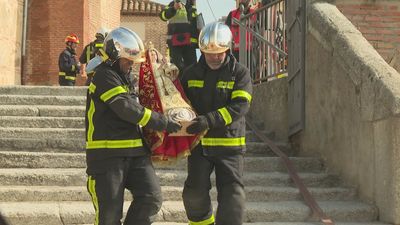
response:
<path id="1" fill-rule="evenodd" d="M 156 49 L 149 48 L 146 62 L 140 66 L 139 101 L 153 111 L 180 121 L 183 128 L 177 134 L 168 134 L 144 128 L 144 139 L 152 150 L 154 161 L 174 161 L 190 154 L 200 136 L 186 134 L 186 126 L 196 117 L 179 83 L 179 70 Z"/>

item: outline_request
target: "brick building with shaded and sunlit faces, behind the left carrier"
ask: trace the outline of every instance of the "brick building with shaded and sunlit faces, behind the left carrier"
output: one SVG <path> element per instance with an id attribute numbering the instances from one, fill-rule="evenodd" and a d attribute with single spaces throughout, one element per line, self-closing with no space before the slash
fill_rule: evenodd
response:
<path id="1" fill-rule="evenodd" d="M 65 37 L 78 35 L 80 55 L 100 26 L 119 26 L 120 8 L 121 0 L 30 0 L 24 84 L 58 85 L 58 56 L 65 49 Z M 77 84 L 83 83 L 78 77 Z"/>

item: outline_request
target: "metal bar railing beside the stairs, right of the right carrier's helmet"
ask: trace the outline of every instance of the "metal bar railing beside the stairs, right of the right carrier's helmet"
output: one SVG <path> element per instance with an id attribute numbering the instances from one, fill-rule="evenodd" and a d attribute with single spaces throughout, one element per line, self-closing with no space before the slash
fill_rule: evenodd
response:
<path id="1" fill-rule="evenodd" d="M 285 7 L 285 0 L 275 0 L 233 19 L 240 27 L 239 62 L 254 83 L 287 76 Z"/>

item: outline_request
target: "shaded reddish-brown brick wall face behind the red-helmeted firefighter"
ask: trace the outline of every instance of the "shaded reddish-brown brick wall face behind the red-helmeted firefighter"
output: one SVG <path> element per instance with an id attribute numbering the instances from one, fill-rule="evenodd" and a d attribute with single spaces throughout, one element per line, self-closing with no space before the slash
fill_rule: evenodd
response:
<path id="1" fill-rule="evenodd" d="M 24 84 L 58 85 L 58 56 L 70 33 L 83 36 L 85 0 L 31 0 Z M 78 46 L 78 54 L 82 45 Z"/>

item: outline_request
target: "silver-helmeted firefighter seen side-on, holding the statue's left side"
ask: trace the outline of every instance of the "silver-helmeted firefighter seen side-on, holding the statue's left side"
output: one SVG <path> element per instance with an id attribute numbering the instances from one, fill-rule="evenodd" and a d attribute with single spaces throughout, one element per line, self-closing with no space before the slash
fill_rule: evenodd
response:
<path id="1" fill-rule="evenodd" d="M 133 31 L 119 27 L 105 39 L 99 65 L 86 103 L 87 188 L 95 209 L 95 224 L 121 225 L 124 189 L 134 202 L 124 225 L 148 225 L 161 207 L 161 190 L 150 150 L 140 127 L 174 133 L 181 125 L 141 106 L 130 93 L 128 76 L 134 63 L 142 62 L 144 47 Z"/>

